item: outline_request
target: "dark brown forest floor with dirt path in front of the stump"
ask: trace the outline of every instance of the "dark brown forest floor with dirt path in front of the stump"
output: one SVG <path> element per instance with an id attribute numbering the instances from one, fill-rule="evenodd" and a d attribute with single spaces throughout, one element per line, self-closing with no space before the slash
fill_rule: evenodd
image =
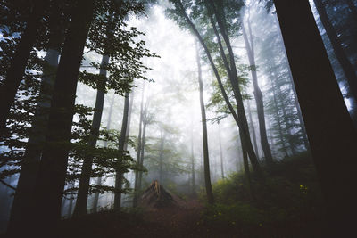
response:
<path id="1" fill-rule="evenodd" d="M 185 208 L 170 207 L 137 212 L 99 212 L 64 220 L 59 237 L 237 237 L 223 235 L 201 223 L 203 204 L 187 201 Z"/>

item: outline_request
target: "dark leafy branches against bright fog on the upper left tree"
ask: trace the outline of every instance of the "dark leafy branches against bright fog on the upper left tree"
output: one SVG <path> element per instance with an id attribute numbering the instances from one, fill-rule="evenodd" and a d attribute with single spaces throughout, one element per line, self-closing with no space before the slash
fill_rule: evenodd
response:
<path id="1" fill-rule="evenodd" d="M 107 71 L 107 77 L 83 70 L 79 80 L 93 88 L 107 92 L 114 90 L 123 95 L 130 92 L 134 79 L 145 79 L 150 70 L 141 60 L 158 57 L 145 48 L 145 41 L 139 38 L 145 33 L 128 28 L 126 20 L 130 14 L 144 13 L 145 4 L 137 2 L 99 1 L 94 21 L 88 33 L 87 48 L 100 55 L 107 55 L 109 63 L 90 62 L 90 67 Z"/>

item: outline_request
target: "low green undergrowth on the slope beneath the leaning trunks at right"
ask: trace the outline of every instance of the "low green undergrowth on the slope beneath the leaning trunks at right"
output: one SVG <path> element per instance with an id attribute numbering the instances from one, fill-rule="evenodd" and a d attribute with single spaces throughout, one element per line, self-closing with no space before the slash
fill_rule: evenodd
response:
<path id="1" fill-rule="evenodd" d="M 239 234 L 260 234 L 259 237 L 292 234 L 286 226 L 311 229 L 309 221 L 319 220 L 323 213 L 310 155 L 301 153 L 265 170 L 269 175 L 265 185 L 253 180 L 255 200 L 249 196 L 244 174 L 235 173 L 218 181 L 212 187 L 217 202 L 204 210 L 200 222 L 206 226 L 237 229 Z M 308 230 L 296 232 L 304 234 Z"/>

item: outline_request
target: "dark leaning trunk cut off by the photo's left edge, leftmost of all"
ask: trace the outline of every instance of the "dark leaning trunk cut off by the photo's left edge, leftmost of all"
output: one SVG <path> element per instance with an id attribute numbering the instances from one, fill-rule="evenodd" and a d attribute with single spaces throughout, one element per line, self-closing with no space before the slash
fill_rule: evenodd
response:
<path id="1" fill-rule="evenodd" d="M 9 117 L 10 108 L 25 73 L 29 53 L 35 44 L 37 30 L 40 27 L 47 4 L 46 0 L 34 2 L 32 12 L 26 22 L 26 29 L 21 34 L 21 40 L 12 57 L 10 68 L 6 71 L 6 78 L 0 86 L 0 136 L 4 135 L 6 119 Z"/>

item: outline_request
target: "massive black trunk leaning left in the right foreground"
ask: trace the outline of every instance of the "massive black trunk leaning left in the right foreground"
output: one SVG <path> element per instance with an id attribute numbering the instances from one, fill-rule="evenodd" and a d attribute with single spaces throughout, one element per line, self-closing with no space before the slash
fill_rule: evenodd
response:
<path id="1" fill-rule="evenodd" d="M 274 3 L 327 205 L 330 222 L 328 236 L 356 236 L 356 130 L 336 82 L 309 1 L 274 0 Z"/>

